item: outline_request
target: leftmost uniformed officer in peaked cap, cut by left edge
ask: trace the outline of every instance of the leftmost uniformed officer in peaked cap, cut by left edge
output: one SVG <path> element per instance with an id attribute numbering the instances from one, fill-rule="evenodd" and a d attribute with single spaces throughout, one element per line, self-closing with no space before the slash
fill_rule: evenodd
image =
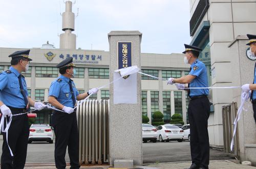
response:
<path id="1" fill-rule="evenodd" d="M 21 72 L 28 71 L 30 50 L 16 51 L 9 55 L 12 58 L 9 70 L 0 74 L 0 109 L 3 117 L 11 114 L 20 114 L 28 111 L 29 106 L 41 110 L 45 107 L 40 102 L 34 102 L 28 97 L 26 80 Z M 8 144 L 13 152 L 13 157 L 3 132 L 4 143 L 1 156 L 1 168 L 24 168 L 27 156 L 29 137 L 28 115 L 13 116 L 8 130 Z"/>

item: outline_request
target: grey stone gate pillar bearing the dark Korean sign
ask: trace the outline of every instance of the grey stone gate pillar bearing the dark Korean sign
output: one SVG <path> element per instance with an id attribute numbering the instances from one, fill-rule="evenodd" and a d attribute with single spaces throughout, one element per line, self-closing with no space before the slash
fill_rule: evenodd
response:
<path id="1" fill-rule="evenodd" d="M 112 31 L 108 34 L 110 44 L 110 81 L 118 68 L 118 44 L 127 42 L 131 51 L 128 61 L 131 66 L 140 68 L 139 31 Z M 119 42 L 119 43 L 118 43 Z M 130 66 L 129 65 L 129 66 Z M 122 65 L 123 66 L 123 65 Z M 124 65 L 125 67 L 125 65 Z M 129 78 L 129 77 L 128 77 Z M 137 75 L 137 103 L 114 104 L 114 85 L 110 86 L 110 165 L 115 159 L 132 159 L 135 165 L 142 165 L 142 114 L 141 114 L 141 75 Z"/>

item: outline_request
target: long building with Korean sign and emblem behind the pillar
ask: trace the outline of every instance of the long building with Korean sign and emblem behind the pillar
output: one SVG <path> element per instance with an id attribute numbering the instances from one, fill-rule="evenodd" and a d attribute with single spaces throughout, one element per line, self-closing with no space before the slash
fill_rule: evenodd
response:
<path id="1" fill-rule="evenodd" d="M 73 78 L 79 93 L 84 93 L 91 88 L 101 87 L 109 83 L 110 53 L 102 50 L 79 49 L 46 49 L 32 48 L 29 71 L 24 72 L 29 95 L 33 100 L 48 103 L 49 87 L 51 82 L 59 76 L 56 65 L 62 60 L 73 57 L 76 64 L 76 76 Z M 0 72 L 9 69 L 10 58 L 8 55 L 18 48 L 0 48 Z M 181 77 L 188 74 L 189 66 L 183 62 L 184 55 L 141 53 L 141 71 L 156 77 L 168 79 Z M 168 123 L 170 117 L 179 113 L 187 123 L 188 99 L 185 91 L 178 91 L 176 86 L 167 85 L 167 81 L 158 80 L 142 75 L 142 113 L 148 116 L 150 123 L 155 111 L 164 114 L 164 122 Z M 109 99 L 109 87 L 101 89 L 91 99 Z M 50 123 L 51 110 L 37 112 L 36 123 Z"/>

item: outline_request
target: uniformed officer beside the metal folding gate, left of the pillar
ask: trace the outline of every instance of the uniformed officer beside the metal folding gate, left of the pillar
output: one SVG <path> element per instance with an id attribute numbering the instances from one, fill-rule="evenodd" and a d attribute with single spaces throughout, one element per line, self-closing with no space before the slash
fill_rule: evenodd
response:
<path id="1" fill-rule="evenodd" d="M 54 111 L 52 116 L 52 126 L 55 133 L 55 165 L 57 168 L 66 168 L 66 149 L 68 146 L 71 168 L 79 168 L 79 135 L 74 106 L 76 100 L 82 100 L 90 94 L 96 94 L 97 88 L 89 90 L 87 93 L 79 94 L 75 83 L 71 80 L 76 70 L 73 58 L 68 58 L 57 65 L 59 73 L 50 86 L 49 102 L 56 108 L 63 110 Z"/>

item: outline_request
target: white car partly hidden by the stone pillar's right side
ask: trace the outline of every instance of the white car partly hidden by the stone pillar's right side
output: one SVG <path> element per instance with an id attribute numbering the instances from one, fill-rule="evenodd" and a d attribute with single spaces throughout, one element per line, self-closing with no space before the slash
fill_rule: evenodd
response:
<path id="1" fill-rule="evenodd" d="M 150 140 L 153 143 L 157 142 L 157 129 L 151 124 L 142 124 L 142 140 L 146 143 Z"/>

